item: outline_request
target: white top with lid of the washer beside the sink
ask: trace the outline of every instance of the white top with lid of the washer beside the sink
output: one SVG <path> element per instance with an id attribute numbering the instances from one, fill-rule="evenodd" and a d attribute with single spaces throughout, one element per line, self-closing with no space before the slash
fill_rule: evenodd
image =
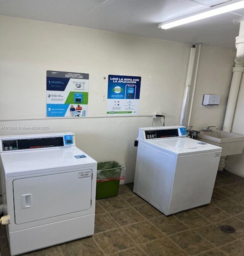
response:
<path id="1" fill-rule="evenodd" d="M 221 147 L 217 147 L 205 142 L 200 142 L 198 140 L 193 140 L 188 137 L 168 139 L 164 138 L 150 141 L 141 140 L 139 138 L 138 140 L 176 156 L 222 151 Z"/>

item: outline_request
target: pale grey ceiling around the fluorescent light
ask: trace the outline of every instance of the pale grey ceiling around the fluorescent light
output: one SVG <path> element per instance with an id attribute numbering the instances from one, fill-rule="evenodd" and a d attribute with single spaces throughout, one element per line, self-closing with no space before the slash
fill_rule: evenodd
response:
<path id="1" fill-rule="evenodd" d="M 244 9 L 168 30 L 158 23 L 227 0 L 0 0 L 0 14 L 234 49 Z"/>

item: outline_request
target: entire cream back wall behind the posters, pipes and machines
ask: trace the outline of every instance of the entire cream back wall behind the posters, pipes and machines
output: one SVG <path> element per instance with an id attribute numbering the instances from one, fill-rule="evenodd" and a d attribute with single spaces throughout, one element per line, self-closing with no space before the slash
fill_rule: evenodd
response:
<path id="1" fill-rule="evenodd" d="M 96 117 L 106 114 L 108 80 L 103 77 L 141 76 L 140 115 L 161 111 L 166 125 L 177 125 L 191 45 L 7 16 L 0 16 L 0 24 L 0 128 L 72 131 L 79 148 L 97 161 L 125 164 L 126 182 L 133 181 L 133 141 L 138 127 L 151 126 L 152 118 Z M 194 125 L 222 125 L 233 58 L 231 50 L 202 48 L 194 101 L 201 113 L 193 112 Z M 47 70 L 90 74 L 87 118 L 45 118 Z M 202 108 L 203 93 L 222 94 L 222 104 L 214 111 Z M 34 132 L 0 129 L 0 135 Z"/>

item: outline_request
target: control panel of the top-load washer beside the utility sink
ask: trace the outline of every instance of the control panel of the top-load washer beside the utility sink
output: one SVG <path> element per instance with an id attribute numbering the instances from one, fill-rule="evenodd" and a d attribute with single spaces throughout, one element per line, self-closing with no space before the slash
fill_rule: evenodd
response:
<path id="1" fill-rule="evenodd" d="M 139 128 L 138 138 L 143 140 L 186 137 L 187 131 L 184 126 L 162 126 Z"/>

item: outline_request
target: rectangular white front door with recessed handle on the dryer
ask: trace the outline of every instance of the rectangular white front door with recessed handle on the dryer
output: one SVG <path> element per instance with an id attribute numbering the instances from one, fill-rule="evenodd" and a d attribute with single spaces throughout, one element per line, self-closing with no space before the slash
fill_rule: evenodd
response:
<path id="1" fill-rule="evenodd" d="M 92 170 L 13 181 L 15 223 L 22 224 L 91 207 Z"/>

